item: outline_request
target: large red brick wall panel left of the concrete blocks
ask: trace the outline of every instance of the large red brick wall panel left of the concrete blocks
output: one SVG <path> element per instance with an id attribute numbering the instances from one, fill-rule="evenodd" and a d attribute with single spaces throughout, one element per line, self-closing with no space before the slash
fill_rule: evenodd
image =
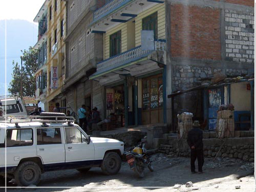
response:
<path id="1" fill-rule="evenodd" d="M 174 4 L 170 22 L 172 57 L 221 59 L 219 9 Z"/>

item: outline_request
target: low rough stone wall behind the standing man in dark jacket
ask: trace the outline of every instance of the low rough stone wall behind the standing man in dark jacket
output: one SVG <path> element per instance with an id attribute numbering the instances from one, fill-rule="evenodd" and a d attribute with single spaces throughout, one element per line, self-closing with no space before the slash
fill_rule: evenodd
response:
<path id="1" fill-rule="evenodd" d="M 218 151 L 220 150 L 220 145 L 212 145 L 212 146 L 205 146 L 204 147 L 204 157 L 215 157 Z M 176 157 L 176 156 L 190 156 L 190 149 L 181 149 L 181 148 L 174 148 L 173 145 L 160 145 L 158 150 L 161 153 L 165 153 L 169 155 L 169 157 Z M 232 145 L 224 145 L 220 152 L 217 155 L 218 157 L 228 157 L 228 158 L 237 158 L 243 159 L 244 161 L 254 161 L 254 145 L 239 145 L 239 146 L 232 146 Z"/>

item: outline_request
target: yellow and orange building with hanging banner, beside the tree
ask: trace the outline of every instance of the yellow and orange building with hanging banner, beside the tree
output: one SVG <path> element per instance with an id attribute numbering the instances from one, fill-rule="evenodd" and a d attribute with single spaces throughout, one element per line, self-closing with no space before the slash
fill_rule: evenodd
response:
<path id="1" fill-rule="evenodd" d="M 65 80 L 66 8 L 65 1 L 46 0 L 34 21 L 38 21 L 38 70 L 36 99 L 52 111 L 61 102 L 60 92 Z"/>

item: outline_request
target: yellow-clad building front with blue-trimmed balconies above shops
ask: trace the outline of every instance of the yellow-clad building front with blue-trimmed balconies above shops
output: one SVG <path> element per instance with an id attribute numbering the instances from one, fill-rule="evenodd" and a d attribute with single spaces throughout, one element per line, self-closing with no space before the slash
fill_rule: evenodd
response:
<path id="1" fill-rule="evenodd" d="M 91 30 L 103 34 L 90 79 L 103 87 L 105 116 L 114 114 L 116 127 L 166 123 L 164 1 L 110 1 L 94 11 Z"/>

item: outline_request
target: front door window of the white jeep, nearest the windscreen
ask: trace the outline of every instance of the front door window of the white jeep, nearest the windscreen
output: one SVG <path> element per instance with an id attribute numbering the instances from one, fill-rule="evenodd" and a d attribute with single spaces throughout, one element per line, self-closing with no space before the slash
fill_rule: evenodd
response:
<path id="1" fill-rule="evenodd" d="M 82 132 L 76 127 L 66 127 L 66 142 L 67 143 L 79 143 L 79 142 L 87 142 L 88 139 Z"/>

